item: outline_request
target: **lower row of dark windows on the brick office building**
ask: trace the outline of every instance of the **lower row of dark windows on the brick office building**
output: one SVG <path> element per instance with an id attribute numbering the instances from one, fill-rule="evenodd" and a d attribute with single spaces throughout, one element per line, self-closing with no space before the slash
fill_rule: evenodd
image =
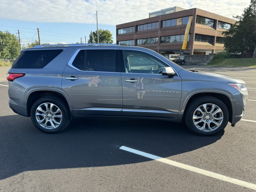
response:
<path id="1" fill-rule="evenodd" d="M 183 42 L 184 35 L 172 35 L 161 37 L 160 43 L 172 43 Z M 190 34 L 188 35 L 188 41 L 190 41 Z M 195 34 L 195 41 L 213 43 L 214 36 Z M 137 39 L 137 45 L 156 44 L 158 43 L 158 37 Z M 216 43 L 224 44 L 224 38 L 216 37 Z M 134 40 L 119 41 L 118 45 L 134 46 Z"/>

